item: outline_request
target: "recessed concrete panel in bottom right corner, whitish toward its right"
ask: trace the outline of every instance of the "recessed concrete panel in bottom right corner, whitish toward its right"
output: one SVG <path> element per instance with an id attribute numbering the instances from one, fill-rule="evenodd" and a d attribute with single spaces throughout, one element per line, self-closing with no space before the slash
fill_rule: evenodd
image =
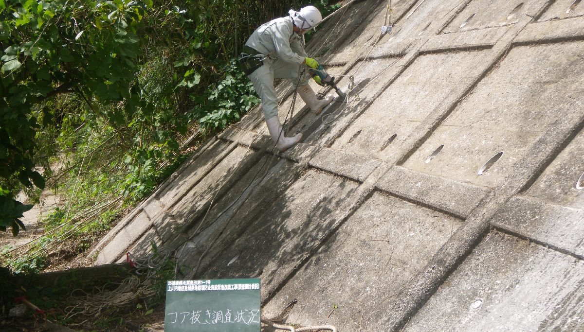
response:
<path id="1" fill-rule="evenodd" d="M 584 263 L 493 232 L 405 331 L 580 331 Z"/>

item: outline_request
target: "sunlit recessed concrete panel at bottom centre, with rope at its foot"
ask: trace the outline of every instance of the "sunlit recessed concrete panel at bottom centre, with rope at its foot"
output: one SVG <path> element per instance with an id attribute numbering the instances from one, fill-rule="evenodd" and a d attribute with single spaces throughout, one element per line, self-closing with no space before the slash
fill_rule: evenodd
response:
<path id="1" fill-rule="evenodd" d="M 287 321 L 365 331 L 402 286 L 422 270 L 461 225 L 460 219 L 375 193 L 339 228 L 262 310 Z M 333 305 L 338 306 L 333 310 Z M 391 315 L 391 313 L 387 313 Z"/>

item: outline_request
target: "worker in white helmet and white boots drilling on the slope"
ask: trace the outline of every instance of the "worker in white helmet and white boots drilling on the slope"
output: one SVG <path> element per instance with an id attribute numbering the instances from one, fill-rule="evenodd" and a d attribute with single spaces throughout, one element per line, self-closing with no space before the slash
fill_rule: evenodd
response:
<path id="1" fill-rule="evenodd" d="M 298 95 L 315 113 L 331 103 L 333 96 L 317 99 L 308 85 L 310 73 L 304 66 L 317 69 L 318 62 L 309 58 L 304 51 L 303 34 L 314 29 L 322 20 L 322 15 L 314 6 L 306 6 L 300 11 L 290 10 L 290 15 L 271 20 L 258 27 L 242 50 L 239 57 L 241 67 L 251 79 L 253 88 L 262 100 L 263 116 L 267 129 L 279 151 L 284 152 L 302 138 L 302 134 L 286 137 L 278 118 L 278 96 L 274 88 L 274 78 L 287 78 L 297 86 Z M 299 77 L 300 76 L 300 77 Z M 321 79 L 314 80 L 322 85 Z"/>

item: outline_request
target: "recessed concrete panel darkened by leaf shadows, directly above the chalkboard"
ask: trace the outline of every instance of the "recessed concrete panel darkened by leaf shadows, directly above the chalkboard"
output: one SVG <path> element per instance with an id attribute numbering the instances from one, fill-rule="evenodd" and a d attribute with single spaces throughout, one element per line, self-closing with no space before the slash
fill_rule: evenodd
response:
<path id="1" fill-rule="evenodd" d="M 265 299 L 332 232 L 356 187 L 309 170 L 214 259 L 203 278 L 262 278 Z"/>

